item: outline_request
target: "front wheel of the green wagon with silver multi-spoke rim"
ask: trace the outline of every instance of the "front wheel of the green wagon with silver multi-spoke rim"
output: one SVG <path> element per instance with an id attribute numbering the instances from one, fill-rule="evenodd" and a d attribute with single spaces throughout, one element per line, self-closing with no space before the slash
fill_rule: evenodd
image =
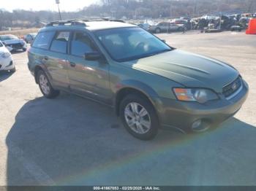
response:
<path id="1" fill-rule="evenodd" d="M 137 112 L 135 112 L 135 104 L 137 104 Z M 135 138 L 147 141 L 157 136 L 159 127 L 157 114 L 152 104 L 140 95 L 127 95 L 121 101 L 119 114 L 124 127 Z M 130 122 L 129 125 L 128 122 Z"/>

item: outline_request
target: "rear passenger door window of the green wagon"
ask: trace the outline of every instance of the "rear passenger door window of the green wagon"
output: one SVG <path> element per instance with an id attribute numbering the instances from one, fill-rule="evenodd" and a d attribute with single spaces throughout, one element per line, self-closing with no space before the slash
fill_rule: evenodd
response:
<path id="1" fill-rule="evenodd" d="M 69 41 L 69 32 L 67 31 L 57 32 L 50 46 L 50 50 L 55 52 L 66 53 L 68 41 Z"/>

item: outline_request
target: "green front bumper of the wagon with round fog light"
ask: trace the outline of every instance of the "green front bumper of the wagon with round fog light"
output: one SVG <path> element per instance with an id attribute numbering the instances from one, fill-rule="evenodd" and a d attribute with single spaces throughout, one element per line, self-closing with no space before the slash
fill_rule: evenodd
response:
<path id="1" fill-rule="evenodd" d="M 248 92 L 249 87 L 243 80 L 242 90 L 230 100 L 220 95 L 221 98 L 217 101 L 199 104 L 161 98 L 157 109 L 159 120 L 162 126 L 178 128 L 185 132 L 192 131 L 192 124 L 198 120 L 208 128 L 236 114 L 246 101 Z"/>

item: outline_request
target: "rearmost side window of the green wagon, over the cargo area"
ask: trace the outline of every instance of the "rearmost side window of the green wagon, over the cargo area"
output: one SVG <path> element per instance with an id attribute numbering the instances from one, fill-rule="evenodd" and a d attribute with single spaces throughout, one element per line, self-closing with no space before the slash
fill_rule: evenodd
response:
<path id="1" fill-rule="evenodd" d="M 32 47 L 48 49 L 50 47 L 51 39 L 53 39 L 53 35 L 53 31 L 39 33 L 34 40 Z"/>

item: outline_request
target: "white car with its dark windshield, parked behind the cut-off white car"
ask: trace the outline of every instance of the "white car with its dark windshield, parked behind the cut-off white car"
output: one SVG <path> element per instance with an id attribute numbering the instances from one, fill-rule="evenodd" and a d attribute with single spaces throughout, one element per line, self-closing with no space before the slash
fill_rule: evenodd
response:
<path id="1" fill-rule="evenodd" d="M 12 34 L 0 35 L 0 41 L 7 47 L 9 51 L 23 50 L 26 51 L 27 44 L 23 39 L 19 39 Z"/>

